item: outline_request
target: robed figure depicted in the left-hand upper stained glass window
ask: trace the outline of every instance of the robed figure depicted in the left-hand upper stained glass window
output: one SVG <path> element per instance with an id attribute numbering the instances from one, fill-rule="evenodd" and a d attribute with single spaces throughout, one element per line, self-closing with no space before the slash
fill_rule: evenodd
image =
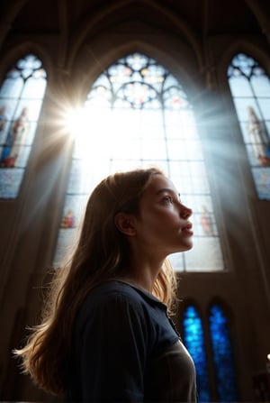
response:
<path id="1" fill-rule="evenodd" d="M 15 166 L 28 133 L 29 120 L 27 113 L 28 110 L 24 107 L 22 113 L 18 119 L 15 120 L 14 124 L 12 124 L 10 132 L 7 134 L 1 156 L 1 167 L 14 168 Z"/>

